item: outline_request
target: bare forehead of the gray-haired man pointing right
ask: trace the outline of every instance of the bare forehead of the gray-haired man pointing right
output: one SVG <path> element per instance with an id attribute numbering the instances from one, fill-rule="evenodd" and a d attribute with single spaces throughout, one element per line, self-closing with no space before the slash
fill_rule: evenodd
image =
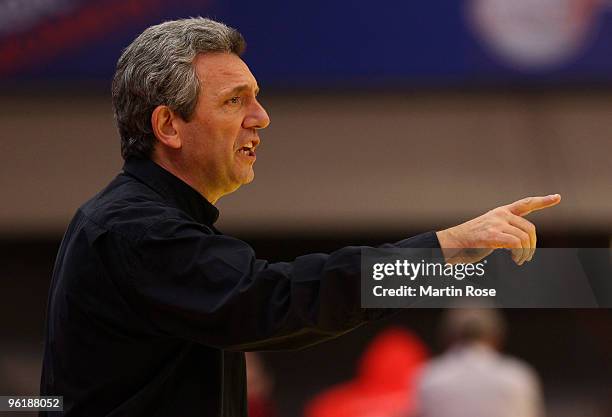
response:
<path id="1" fill-rule="evenodd" d="M 219 94 L 241 85 L 248 85 L 253 90 L 257 88 L 257 80 L 249 67 L 235 54 L 200 54 L 194 64 L 204 91 Z"/>

